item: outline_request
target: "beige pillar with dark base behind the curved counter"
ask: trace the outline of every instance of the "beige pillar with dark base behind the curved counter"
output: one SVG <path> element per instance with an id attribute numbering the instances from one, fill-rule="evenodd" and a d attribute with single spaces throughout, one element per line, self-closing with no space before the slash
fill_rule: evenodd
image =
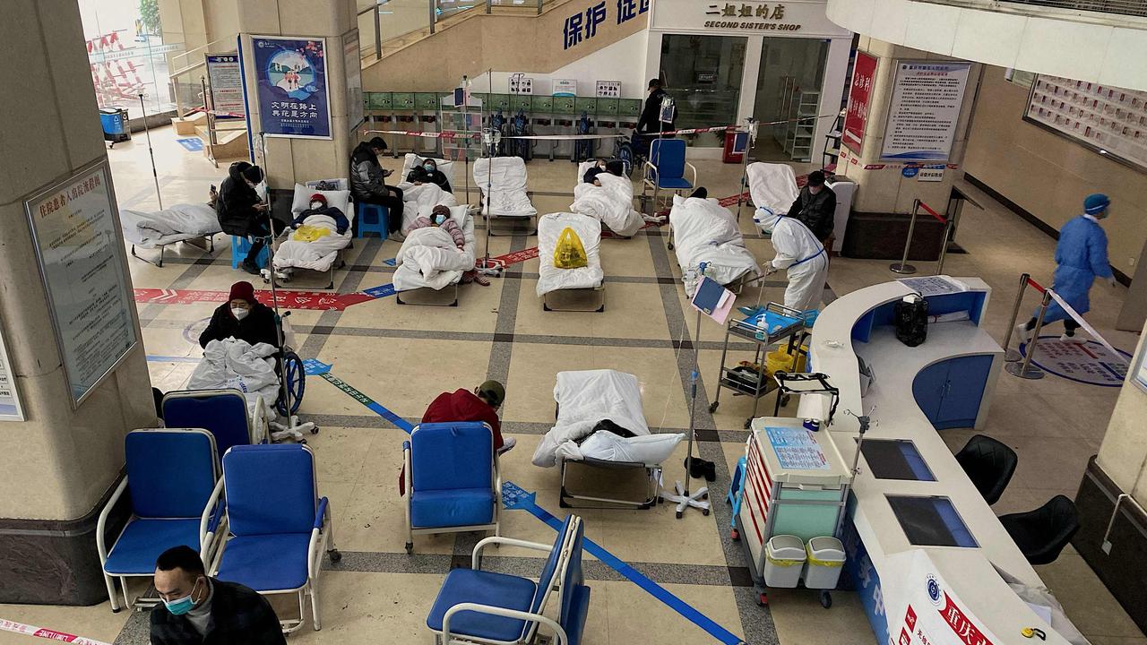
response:
<path id="1" fill-rule="evenodd" d="M 952 182 L 959 170 L 947 169 L 941 181 L 920 181 L 916 177 L 905 177 L 904 162 L 881 158 L 884 146 L 884 130 L 896 81 L 897 61 L 953 61 L 955 59 L 892 45 L 875 38 L 861 36 L 859 50 L 876 57 L 876 75 L 868 103 L 868 118 L 864 131 L 863 149 L 844 147 L 837 173 L 857 182 L 852 200 L 852 217 L 849 220 L 843 255 L 851 257 L 899 258 L 907 235 L 905 213 L 912 212 L 912 204 L 921 200 L 943 215 L 947 204 Z M 963 103 L 955 127 L 951 156 L 947 164 L 960 166 L 967 147 L 980 64 L 973 63 L 963 91 Z M 918 222 L 913 244 L 913 259 L 936 259 L 939 250 L 942 225 L 927 216 Z M 850 240 L 851 238 L 851 240 Z"/>

